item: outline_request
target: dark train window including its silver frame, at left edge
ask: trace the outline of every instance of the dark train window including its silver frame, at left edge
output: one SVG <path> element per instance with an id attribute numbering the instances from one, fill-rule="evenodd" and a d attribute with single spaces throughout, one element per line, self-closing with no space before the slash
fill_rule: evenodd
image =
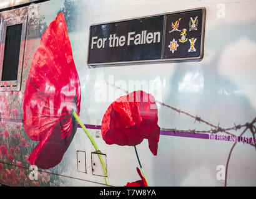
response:
<path id="1" fill-rule="evenodd" d="M 27 17 L 6 19 L 0 26 L 0 91 L 19 91 L 26 40 Z"/>

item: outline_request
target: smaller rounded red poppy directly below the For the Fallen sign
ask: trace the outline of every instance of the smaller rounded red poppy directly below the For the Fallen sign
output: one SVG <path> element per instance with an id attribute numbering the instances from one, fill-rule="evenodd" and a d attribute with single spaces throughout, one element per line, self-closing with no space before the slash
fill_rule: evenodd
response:
<path id="1" fill-rule="evenodd" d="M 149 149 L 157 155 L 160 128 L 154 96 L 134 91 L 121 96 L 107 109 L 101 134 L 106 144 L 136 146 L 148 139 Z"/>

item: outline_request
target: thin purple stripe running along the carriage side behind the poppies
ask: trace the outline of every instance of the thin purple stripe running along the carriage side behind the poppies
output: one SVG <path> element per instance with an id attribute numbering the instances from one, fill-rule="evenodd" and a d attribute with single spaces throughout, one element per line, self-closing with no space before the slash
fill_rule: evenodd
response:
<path id="1" fill-rule="evenodd" d="M 22 119 L 11 119 L 11 118 L 0 118 L 0 121 L 7 123 L 23 123 Z M 100 125 L 84 124 L 87 129 L 97 129 L 101 130 Z M 80 124 L 77 127 L 81 128 Z M 176 137 L 190 137 L 198 139 L 211 139 L 214 141 L 229 141 L 229 142 L 247 142 L 254 144 L 256 139 L 254 137 L 239 137 L 239 136 L 229 136 L 223 134 L 206 134 L 206 133 L 193 133 L 193 132 L 180 132 L 180 131 L 170 131 L 170 130 L 160 130 L 161 136 L 176 136 Z"/>

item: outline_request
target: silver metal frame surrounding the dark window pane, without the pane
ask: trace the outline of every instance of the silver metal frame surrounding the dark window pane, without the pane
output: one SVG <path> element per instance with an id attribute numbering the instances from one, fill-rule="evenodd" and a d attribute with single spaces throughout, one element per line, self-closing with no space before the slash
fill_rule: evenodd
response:
<path id="1" fill-rule="evenodd" d="M 7 26 L 22 24 L 21 30 L 21 46 L 19 50 L 19 65 L 17 69 L 17 80 L 14 81 L 2 81 L 2 68 L 4 63 L 4 47 L 6 42 L 6 29 Z M 27 31 L 27 16 L 18 16 L 11 19 L 1 19 L 0 25 L 0 91 L 20 91 L 21 90 L 21 78 L 22 68 L 24 60 L 24 50 L 26 43 L 26 31 Z"/>

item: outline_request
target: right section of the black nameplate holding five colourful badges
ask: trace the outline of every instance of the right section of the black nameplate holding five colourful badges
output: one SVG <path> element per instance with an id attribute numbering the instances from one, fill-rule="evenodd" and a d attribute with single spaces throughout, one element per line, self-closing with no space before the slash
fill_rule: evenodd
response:
<path id="1" fill-rule="evenodd" d="M 202 9 L 166 16 L 164 59 L 200 57 Z"/>

